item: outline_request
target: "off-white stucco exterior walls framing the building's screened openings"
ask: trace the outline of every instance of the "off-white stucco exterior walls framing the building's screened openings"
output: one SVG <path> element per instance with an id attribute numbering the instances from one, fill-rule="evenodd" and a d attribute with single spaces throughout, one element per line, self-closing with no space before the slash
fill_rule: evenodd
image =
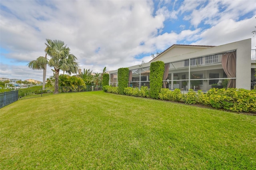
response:
<path id="1" fill-rule="evenodd" d="M 179 50 L 181 52 L 179 52 Z M 189 52 L 189 50 L 198 50 L 198 51 Z M 204 49 L 202 48 L 189 49 L 188 47 L 183 47 L 183 46 L 175 47 L 172 49 L 170 48 L 170 50 L 164 51 L 161 54 L 161 56 L 156 57 L 149 63 L 134 65 L 128 68 L 130 70 L 139 69 L 144 67 L 150 67 L 150 63 L 154 61 L 164 61 L 164 63 L 170 63 L 174 61 L 181 61 L 181 60 L 195 58 L 195 57 L 204 57 L 207 55 L 225 53 L 225 52 L 234 51 L 234 50 L 236 50 L 236 88 L 250 90 L 251 67 L 253 67 L 252 60 L 251 60 L 251 39 L 228 43 L 225 45 L 220 45 L 215 47 L 205 47 Z M 180 62 L 180 64 L 182 66 L 182 62 Z M 223 69 L 223 68 L 221 63 L 218 63 L 218 64 L 207 65 L 205 67 L 194 69 L 193 71 L 206 71 L 206 73 L 208 73 L 207 71 L 209 69 Z M 172 70 L 172 73 L 175 73 L 176 71 L 178 72 L 181 70 Z M 110 71 L 110 73 L 117 73 L 117 70 Z"/>

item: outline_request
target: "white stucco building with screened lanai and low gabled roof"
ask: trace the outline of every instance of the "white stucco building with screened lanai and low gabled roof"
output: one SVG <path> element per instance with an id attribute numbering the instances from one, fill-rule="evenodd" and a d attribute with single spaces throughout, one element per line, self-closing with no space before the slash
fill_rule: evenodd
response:
<path id="1" fill-rule="evenodd" d="M 164 88 L 207 91 L 212 84 L 228 79 L 228 87 L 249 90 L 256 82 L 251 39 L 219 46 L 172 45 L 150 62 L 128 67 L 131 87 L 150 87 L 150 63 L 154 61 L 165 63 Z M 110 85 L 118 85 L 117 70 L 109 73 Z"/>

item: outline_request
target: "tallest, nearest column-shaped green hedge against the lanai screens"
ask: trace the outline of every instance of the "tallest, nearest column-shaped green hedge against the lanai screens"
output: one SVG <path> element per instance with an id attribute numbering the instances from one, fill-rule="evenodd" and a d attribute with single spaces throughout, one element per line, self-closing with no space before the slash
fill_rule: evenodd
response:
<path id="1" fill-rule="evenodd" d="M 150 64 L 150 97 L 158 99 L 164 76 L 164 62 L 156 61 Z"/>

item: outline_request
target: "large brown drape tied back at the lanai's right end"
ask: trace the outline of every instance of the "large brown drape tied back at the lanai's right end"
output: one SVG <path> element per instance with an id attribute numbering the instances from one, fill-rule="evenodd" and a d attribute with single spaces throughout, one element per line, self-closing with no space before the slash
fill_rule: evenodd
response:
<path id="1" fill-rule="evenodd" d="M 228 78 L 236 78 L 236 51 L 223 54 L 221 64 Z M 227 88 L 236 88 L 236 79 L 230 79 Z"/>

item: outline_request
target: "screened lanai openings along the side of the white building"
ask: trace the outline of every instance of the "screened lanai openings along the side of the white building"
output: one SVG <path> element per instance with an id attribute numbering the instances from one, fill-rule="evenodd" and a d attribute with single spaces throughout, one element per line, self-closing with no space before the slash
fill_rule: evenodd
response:
<path id="1" fill-rule="evenodd" d="M 110 74 L 111 85 L 117 83 L 114 77 L 117 73 Z M 225 79 L 230 80 L 229 87 L 235 87 L 236 51 L 166 63 L 163 88 L 207 91 Z M 150 88 L 150 67 L 130 70 L 129 87 L 142 86 Z"/>

